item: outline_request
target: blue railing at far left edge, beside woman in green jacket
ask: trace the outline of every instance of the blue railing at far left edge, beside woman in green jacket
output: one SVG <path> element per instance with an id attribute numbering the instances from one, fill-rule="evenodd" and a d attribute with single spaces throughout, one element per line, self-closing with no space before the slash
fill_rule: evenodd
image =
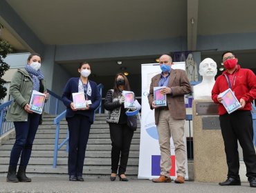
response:
<path id="1" fill-rule="evenodd" d="M 12 101 L 13 100 L 0 105 L 0 136 L 14 128 L 12 121 L 6 120 L 6 113 Z"/>

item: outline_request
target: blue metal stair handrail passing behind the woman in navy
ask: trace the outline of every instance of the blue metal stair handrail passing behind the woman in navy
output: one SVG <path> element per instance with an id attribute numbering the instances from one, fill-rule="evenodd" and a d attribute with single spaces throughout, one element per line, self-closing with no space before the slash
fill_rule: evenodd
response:
<path id="1" fill-rule="evenodd" d="M 104 88 L 104 86 L 102 84 L 98 85 L 98 90 L 100 91 L 100 95 L 102 96 L 102 88 Z M 97 111 L 99 112 L 99 114 L 101 114 L 102 112 L 102 101 L 100 101 L 100 105 L 98 106 L 98 108 L 96 108 L 94 110 L 94 112 L 96 113 Z M 64 139 L 60 145 L 59 145 L 59 136 L 60 136 L 60 121 L 62 121 L 62 119 L 64 119 L 66 117 L 66 110 L 64 110 L 64 112 L 62 112 L 61 114 L 59 114 L 53 121 L 53 123 L 56 125 L 56 130 L 55 130 L 55 146 L 54 146 L 54 152 L 53 152 L 53 167 L 56 168 L 57 166 L 57 154 L 58 154 L 58 150 L 60 150 L 60 148 L 62 148 L 63 145 L 66 144 L 66 151 L 68 152 L 68 139 L 69 139 L 69 133 L 68 133 L 68 129 L 66 131 L 66 139 Z"/>

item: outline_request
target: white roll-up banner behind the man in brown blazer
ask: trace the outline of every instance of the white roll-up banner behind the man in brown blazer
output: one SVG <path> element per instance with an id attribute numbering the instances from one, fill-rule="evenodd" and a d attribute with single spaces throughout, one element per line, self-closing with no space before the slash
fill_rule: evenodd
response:
<path id="1" fill-rule="evenodd" d="M 185 70 L 185 62 L 176 62 L 172 65 L 173 69 Z M 147 63 L 141 65 L 142 75 L 142 94 L 141 94 L 141 126 L 140 126 L 140 158 L 138 166 L 138 179 L 154 179 L 160 176 L 160 148 L 158 143 L 158 133 L 156 130 L 154 110 L 149 108 L 147 95 L 149 94 L 149 86 L 152 77 L 161 73 L 158 63 Z M 186 145 L 186 140 L 184 136 Z M 176 164 L 174 143 L 171 137 L 170 145 L 172 168 L 170 175 L 172 179 L 176 179 Z M 188 160 L 186 159 L 186 176 L 188 179 Z"/>

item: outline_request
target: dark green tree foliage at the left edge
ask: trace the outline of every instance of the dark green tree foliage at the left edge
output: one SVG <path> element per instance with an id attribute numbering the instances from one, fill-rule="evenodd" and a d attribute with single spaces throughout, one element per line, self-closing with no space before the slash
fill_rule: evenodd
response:
<path id="1" fill-rule="evenodd" d="M 7 54 L 12 52 L 12 48 L 7 41 L 0 41 L 0 100 L 6 96 L 7 89 L 3 86 L 6 81 L 2 79 L 3 74 L 6 73 L 6 70 L 10 68 L 10 66 L 3 61 L 6 58 Z"/>

